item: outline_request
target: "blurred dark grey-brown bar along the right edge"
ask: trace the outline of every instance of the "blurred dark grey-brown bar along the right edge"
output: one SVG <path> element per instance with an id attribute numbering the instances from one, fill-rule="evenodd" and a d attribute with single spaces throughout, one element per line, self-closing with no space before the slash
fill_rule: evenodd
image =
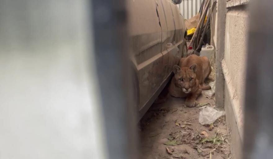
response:
<path id="1" fill-rule="evenodd" d="M 272 4 L 271 0 L 249 2 L 244 159 L 273 156 Z"/>

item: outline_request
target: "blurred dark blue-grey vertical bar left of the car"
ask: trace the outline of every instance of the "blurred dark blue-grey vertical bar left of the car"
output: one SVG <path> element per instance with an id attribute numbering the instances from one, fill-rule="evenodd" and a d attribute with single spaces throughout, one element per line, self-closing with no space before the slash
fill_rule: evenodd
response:
<path id="1" fill-rule="evenodd" d="M 136 121 L 132 101 L 124 0 L 92 1 L 96 66 L 111 159 L 135 158 Z"/>

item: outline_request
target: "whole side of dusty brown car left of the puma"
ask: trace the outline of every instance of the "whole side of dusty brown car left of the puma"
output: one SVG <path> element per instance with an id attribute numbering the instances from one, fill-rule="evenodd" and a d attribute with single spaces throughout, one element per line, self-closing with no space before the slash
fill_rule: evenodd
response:
<path id="1" fill-rule="evenodd" d="M 186 26 L 170 0 L 127 0 L 132 63 L 140 118 L 172 75 L 172 67 L 186 54 Z"/>

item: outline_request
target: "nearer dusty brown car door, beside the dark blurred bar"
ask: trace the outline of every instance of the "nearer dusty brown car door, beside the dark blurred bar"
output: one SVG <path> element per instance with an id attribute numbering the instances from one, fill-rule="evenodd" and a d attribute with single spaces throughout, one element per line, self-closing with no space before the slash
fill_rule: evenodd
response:
<path id="1" fill-rule="evenodd" d="M 164 79 L 162 30 L 154 0 L 128 0 L 127 5 L 129 41 L 139 81 L 139 109 L 142 109 Z"/>

